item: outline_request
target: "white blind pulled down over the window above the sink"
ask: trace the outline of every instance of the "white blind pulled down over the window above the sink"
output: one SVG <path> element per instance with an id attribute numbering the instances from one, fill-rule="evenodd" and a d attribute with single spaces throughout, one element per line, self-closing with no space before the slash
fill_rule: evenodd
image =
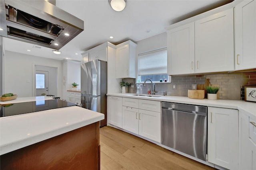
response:
<path id="1" fill-rule="evenodd" d="M 167 49 L 160 49 L 138 56 L 138 75 L 167 74 Z"/>

